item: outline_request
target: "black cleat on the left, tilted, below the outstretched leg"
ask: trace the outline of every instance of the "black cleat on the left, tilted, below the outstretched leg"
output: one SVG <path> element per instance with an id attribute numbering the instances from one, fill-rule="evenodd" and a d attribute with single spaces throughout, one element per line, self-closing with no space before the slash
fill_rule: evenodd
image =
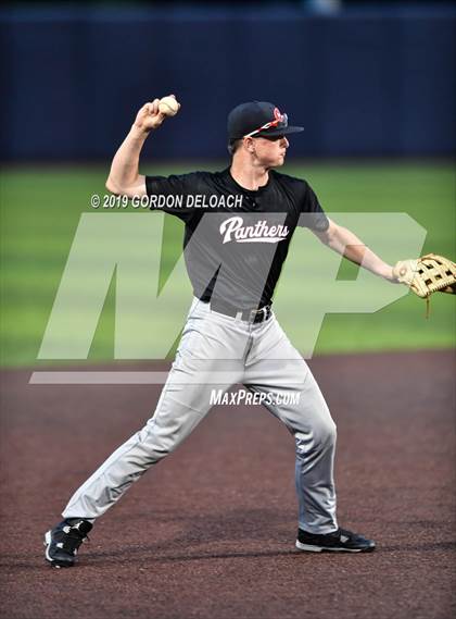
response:
<path id="1" fill-rule="evenodd" d="M 55 568 L 71 568 L 92 527 L 88 520 L 71 518 L 48 531 L 45 535 L 46 560 Z"/>

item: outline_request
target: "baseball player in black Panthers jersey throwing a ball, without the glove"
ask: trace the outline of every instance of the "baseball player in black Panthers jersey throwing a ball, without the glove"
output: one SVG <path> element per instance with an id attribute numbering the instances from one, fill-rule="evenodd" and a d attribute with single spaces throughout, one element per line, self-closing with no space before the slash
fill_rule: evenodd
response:
<path id="1" fill-rule="evenodd" d="M 288 136 L 302 127 L 289 125 L 287 114 L 273 103 L 242 103 L 230 112 L 232 160 L 226 170 L 168 177 L 139 174 L 145 139 L 169 115 L 161 111 L 160 102 L 155 99 L 139 110 L 113 159 L 106 187 L 130 198 L 149 196 L 152 210 L 159 196 L 174 197 L 161 210 L 185 222 L 185 259 L 194 298 L 154 414 L 72 496 L 64 520 L 46 533 L 46 559 L 55 567 L 73 566 L 96 519 L 174 451 L 208 412 L 212 389 L 226 392 L 238 383 L 262 396 L 294 437 L 296 547 L 372 550 L 373 541 L 338 524 L 335 424 L 271 302 L 297 225 L 380 277 L 395 282 L 393 269 L 352 232 L 329 220 L 305 181 L 274 170 L 283 164 Z M 175 99 L 170 108 L 174 115 L 179 108 Z M 287 394 L 297 397 L 278 397 Z"/>

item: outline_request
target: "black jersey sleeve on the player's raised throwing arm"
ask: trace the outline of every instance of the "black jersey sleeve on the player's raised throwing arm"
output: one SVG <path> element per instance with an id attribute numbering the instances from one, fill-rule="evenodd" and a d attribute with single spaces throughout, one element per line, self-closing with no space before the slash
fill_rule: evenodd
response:
<path id="1" fill-rule="evenodd" d="M 189 221 L 194 209 L 189 196 L 198 194 L 200 176 L 198 172 L 190 174 L 172 174 L 170 176 L 145 176 L 145 191 L 149 196 L 151 211 L 164 211 Z"/>

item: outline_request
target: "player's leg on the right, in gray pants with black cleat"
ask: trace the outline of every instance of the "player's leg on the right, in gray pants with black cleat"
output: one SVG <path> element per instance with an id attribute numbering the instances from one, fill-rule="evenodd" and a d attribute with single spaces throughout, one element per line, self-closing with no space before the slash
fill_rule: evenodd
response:
<path id="1" fill-rule="evenodd" d="M 275 319 L 274 319 L 275 321 Z M 375 543 L 339 528 L 333 478 L 337 428 L 307 363 L 277 321 L 253 348 L 244 384 L 263 394 L 264 406 L 295 440 L 300 550 L 366 552 Z"/>

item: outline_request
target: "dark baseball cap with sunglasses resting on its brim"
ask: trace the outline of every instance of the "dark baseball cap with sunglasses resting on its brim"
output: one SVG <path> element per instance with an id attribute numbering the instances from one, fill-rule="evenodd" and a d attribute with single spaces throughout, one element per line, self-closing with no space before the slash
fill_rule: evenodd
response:
<path id="1" fill-rule="evenodd" d="M 264 128 L 263 128 L 264 127 Z M 274 137 L 299 133 L 304 127 L 290 126 L 287 114 L 267 101 L 241 103 L 228 114 L 228 139 L 242 137 Z"/>

